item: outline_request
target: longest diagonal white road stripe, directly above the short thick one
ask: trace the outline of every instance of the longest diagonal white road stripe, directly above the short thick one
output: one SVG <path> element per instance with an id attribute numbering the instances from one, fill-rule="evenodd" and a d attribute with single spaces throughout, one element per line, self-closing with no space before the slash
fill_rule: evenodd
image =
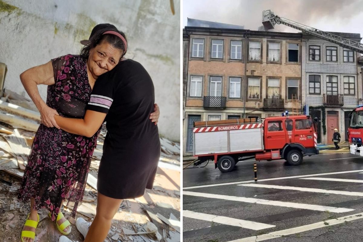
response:
<path id="1" fill-rule="evenodd" d="M 330 207 L 330 206 L 303 204 L 303 203 L 296 203 L 296 202 L 281 202 L 281 201 L 272 201 L 272 200 L 265 200 L 265 199 L 258 199 L 258 198 L 236 197 L 236 196 L 227 196 L 227 195 L 201 193 L 201 192 L 183 191 L 183 196 L 184 195 L 195 196 L 195 197 L 224 199 L 224 200 L 238 201 L 238 202 L 249 202 L 249 203 L 280 206 L 280 207 L 287 207 L 287 208 L 298 208 L 298 209 L 307 209 L 307 210 L 315 210 L 315 211 L 329 211 L 332 213 L 345 213 L 345 212 L 350 212 L 350 211 L 354 210 L 354 209 L 349 209 L 349 208 L 335 208 L 335 207 Z"/>

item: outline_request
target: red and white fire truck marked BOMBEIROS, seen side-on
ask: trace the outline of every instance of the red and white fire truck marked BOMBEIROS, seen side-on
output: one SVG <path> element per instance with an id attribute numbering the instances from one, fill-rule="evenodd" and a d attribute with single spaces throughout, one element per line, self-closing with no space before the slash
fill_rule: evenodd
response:
<path id="1" fill-rule="evenodd" d="M 310 116 L 277 116 L 261 122 L 195 127 L 196 164 L 213 160 L 221 172 L 232 171 L 238 161 L 285 159 L 302 163 L 303 156 L 317 155 L 317 134 Z"/>

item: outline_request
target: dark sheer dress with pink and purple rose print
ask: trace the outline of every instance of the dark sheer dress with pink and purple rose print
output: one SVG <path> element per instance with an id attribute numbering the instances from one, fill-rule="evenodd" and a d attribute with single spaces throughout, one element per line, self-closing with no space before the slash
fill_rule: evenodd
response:
<path id="1" fill-rule="evenodd" d="M 55 84 L 48 86 L 46 104 L 68 118 L 83 118 L 91 95 L 86 59 L 70 54 L 52 60 Z M 40 124 L 18 198 L 35 198 L 33 209 L 47 208 L 56 220 L 62 200 L 82 201 L 99 130 L 91 138 Z"/>

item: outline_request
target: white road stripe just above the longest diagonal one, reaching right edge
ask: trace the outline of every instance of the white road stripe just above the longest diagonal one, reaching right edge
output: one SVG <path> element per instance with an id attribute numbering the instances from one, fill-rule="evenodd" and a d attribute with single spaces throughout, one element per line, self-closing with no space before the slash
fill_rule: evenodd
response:
<path id="1" fill-rule="evenodd" d="M 325 190 L 318 188 L 307 188 L 307 187 L 297 187 L 297 186 L 278 186 L 278 185 L 265 185 L 265 184 L 241 184 L 238 186 L 249 186 L 249 187 L 258 187 L 258 188 L 273 188 L 273 189 L 282 189 L 282 190 L 295 190 L 301 192 L 318 192 L 318 193 L 330 193 L 330 194 L 338 194 L 338 195 L 346 195 L 346 196 L 360 196 L 363 197 L 363 192 L 347 192 L 347 191 L 338 191 L 338 190 Z"/>

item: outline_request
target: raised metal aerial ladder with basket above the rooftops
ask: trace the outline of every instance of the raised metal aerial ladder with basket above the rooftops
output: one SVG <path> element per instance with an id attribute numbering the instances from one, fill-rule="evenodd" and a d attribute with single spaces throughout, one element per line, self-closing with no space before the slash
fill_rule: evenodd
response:
<path id="1" fill-rule="evenodd" d="M 264 25 L 266 30 L 273 29 L 276 24 L 283 24 L 291 28 L 298 29 L 301 32 L 311 34 L 315 37 L 340 45 L 343 48 L 347 48 L 363 54 L 363 44 L 359 42 L 343 38 L 319 29 L 315 29 L 313 27 L 307 26 L 305 24 L 300 24 L 298 22 L 286 19 L 284 17 L 274 15 L 274 13 L 271 10 L 265 10 L 262 12 L 262 24 Z"/>

